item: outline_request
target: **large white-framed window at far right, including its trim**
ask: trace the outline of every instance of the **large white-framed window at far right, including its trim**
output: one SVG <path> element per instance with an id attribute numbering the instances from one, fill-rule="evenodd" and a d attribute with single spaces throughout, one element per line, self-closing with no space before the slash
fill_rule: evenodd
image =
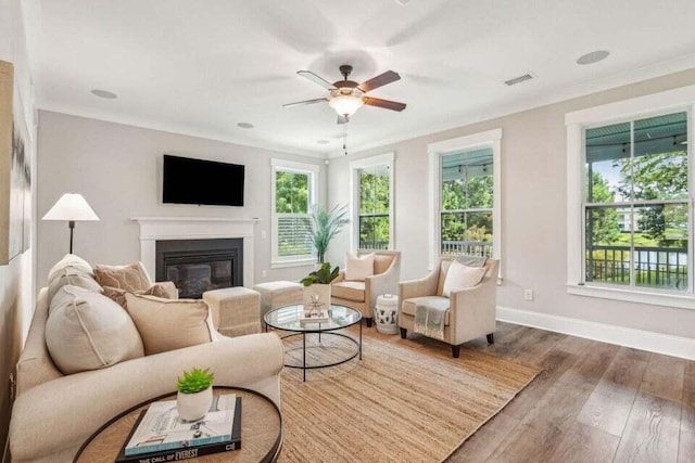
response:
<path id="1" fill-rule="evenodd" d="M 695 86 L 569 113 L 567 291 L 695 309 Z"/>

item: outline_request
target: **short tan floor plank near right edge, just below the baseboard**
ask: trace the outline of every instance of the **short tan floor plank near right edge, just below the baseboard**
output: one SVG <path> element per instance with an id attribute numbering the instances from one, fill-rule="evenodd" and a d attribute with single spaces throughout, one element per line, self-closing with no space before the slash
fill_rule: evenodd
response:
<path id="1" fill-rule="evenodd" d="M 652 353 L 641 390 L 662 399 L 681 401 L 685 360 Z"/>

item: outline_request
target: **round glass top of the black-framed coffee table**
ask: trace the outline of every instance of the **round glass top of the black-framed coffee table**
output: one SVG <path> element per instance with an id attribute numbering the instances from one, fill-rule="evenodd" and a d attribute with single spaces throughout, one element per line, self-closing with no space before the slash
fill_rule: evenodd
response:
<path id="1" fill-rule="evenodd" d="M 358 323 L 362 320 L 362 313 L 355 309 L 345 306 L 331 304 L 328 309 L 328 321 L 321 323 L 302 323 L 301 318 L 304 312 L 304 305 L 279 307 L 270 310 L 263 317 L 268 326 L 283 331 L 296 332 L 320 332 L 340 330 Z"/>

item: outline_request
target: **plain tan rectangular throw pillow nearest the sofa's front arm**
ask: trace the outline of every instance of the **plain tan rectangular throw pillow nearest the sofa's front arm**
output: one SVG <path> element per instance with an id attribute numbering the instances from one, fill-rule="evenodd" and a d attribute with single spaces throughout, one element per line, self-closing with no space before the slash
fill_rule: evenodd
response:
<path id="1" fill-rule="evenodd" d="M 212 340 L 207 325 L 210 309 L 203 300 L 126 293 L 126 307 L 148 356 Z"/>

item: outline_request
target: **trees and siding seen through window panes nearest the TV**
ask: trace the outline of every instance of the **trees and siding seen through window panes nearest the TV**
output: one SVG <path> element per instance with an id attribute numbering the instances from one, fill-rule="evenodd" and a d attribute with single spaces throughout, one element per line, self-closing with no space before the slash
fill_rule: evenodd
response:
<path id="1" fill-rule="evenodd" d="M 275 172 L 275 213 L 277 255 L 279 258 L 307 256 L 311 243 L 309 204 L 312 173 L 277 169 Z"/>

